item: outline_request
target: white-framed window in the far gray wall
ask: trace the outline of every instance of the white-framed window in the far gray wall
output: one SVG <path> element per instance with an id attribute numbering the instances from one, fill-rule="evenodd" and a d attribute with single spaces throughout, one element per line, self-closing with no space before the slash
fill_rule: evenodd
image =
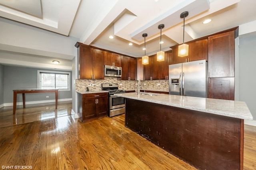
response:
<path id="1" fill-rule="evenodd" d="M 38 70 L 38 88 L 70 90 L 70 72 Z"/>

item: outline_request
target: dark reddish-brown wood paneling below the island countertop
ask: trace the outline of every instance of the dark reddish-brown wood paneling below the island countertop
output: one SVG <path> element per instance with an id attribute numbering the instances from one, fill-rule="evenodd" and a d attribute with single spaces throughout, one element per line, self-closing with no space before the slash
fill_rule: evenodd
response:
<path id="1" fill-rule="evenodd" d="M 126 98 L 125 126 L 200 170 L 243 168 L 244 120 Z"/>

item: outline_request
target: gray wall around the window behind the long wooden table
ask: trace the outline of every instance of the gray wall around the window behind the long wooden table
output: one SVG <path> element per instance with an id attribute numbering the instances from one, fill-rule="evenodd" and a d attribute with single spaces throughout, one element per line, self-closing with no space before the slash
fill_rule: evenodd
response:
<path id="1" fill-rule="evenodd" d="M 26 68 L 16 66 L 4 66 L 4 103 L 13 102 L 13 91 L 15 89 L 22 88 L 37 88 L 37 68 Z M 52 70 L 56 71 L 56 70 Z M 59 71 L 59 70 L 58 70 Z M 68 72 L 68 71 L 65 71 Z M 70 79 L 72 80 L 72 72 L 70 71 Z M 72 89 L 72 83 L 70 83 Z M 54 93 L 36 93 L 26 94 L 26 102 L 55 100 Z M 49 96 L 49 98 L 46 98 Z M 72 90 L 60 91 L 58 93 L 58 99 L 72 98 Z M 18 94 L 17 102 L 22 102 L 22 94 Z"/>

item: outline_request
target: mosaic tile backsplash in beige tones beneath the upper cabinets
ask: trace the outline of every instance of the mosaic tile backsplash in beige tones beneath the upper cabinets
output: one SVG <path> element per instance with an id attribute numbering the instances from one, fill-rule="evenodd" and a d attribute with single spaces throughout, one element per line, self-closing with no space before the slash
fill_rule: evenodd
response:
<path id="1" fill-rule="evenodd" d="M 117 83 L 120 90 L 135 90 L 138 88 L 138 81 L 135 80 L 117 80 L 116 77 L 105 77 L 104 80 L 87 80 L 87 79 L 77 79 L 76 80 L 76 91 L 84 91 L 86 87 L 90 91 L 101 90 L 102 83 Z M 93 86 L 91 86 L 93 84 Z M 168 91 L 169 81 L 168 80 L 144 80 L 141 81 L 141 89 L 144 90 L 158 90 L 158 91 Z"/>

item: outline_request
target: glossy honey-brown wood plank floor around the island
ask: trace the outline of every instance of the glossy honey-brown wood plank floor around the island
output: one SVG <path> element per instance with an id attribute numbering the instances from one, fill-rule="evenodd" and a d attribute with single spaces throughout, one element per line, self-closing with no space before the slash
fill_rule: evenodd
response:
<path id="1" fill-rule="evenodd" d="M 71 103 L 65 106 L 71 112 Z M 24 114 L 24 121 L 21 118 L 14 125 L 0 128 L 1 167 L 32 166 L 33 170 L 195 170 L 124 127 L 124 114 L 81 123 L 72 119 L 70 113 L 58 117 L 58 113 L 50 109 L 55 107 L 54 103 L 47 106 L 49 113 L 54 112 L 55 115 L 49 119 L 39 116 L 40 110 L 47 114 L 46 106 L 31 107 L 34 109 L 31 113 L 20 113 Z M 5 117 L 10 119 L 6 112 L 8 109 L 0 109 L 1 124 Z M 31 116 L 32 112 L 38 113 L 38 120 L 25 123 L 26 113 Z M 244 170 L 255 170 L 256 127 L 245 125 L 244 129 Z"/>

